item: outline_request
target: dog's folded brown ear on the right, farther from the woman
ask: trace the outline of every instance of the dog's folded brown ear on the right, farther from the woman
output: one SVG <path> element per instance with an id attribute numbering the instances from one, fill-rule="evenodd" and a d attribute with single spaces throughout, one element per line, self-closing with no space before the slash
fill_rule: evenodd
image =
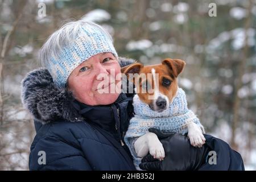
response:
<path id="1" fill-rule="evenodd" d="M 183 60 L 180 59 L 164 59 L 162 61 L 163 65 L 166 65 L 171 72 L 174 74 L 175 77 L 177 77 L 184 69 L 186 63 Z"/>

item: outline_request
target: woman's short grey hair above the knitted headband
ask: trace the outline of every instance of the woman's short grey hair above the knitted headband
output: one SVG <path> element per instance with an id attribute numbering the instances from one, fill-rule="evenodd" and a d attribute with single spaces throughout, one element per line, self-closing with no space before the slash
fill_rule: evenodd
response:
<path id="1" fill-rule="evenodd" d="M 104 30 L 100 25 L 88 22 L 85 20 L 77 20 L 64 24 L 59 30 L 53 32 L 51 36 L 46 40 L 46 43 L 42 46 L 39 52 L 39 63 L 43 67 L 51 61 L 51 57 L 59 57 L 61 49 L 65 46 L 72 44 L 75 41 L 77 35 L 80 33 L 81 27 L 84 24 L 90 24 L 91 26 L 98 27 L 104 34 L 109 36 L 109 39 L 113 42 L 112 36 L 108 31 Z"/>

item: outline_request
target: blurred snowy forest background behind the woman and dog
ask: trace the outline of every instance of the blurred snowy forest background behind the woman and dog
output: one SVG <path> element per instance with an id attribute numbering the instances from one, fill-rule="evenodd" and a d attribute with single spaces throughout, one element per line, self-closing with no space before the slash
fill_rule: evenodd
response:
<path id="1" fill-rule="evenodd" d="M 209 16 L 210 3 L 217 16 Z M 20 81 L 40 66 L 48 36 L 64 20 L 81 17 L 110 32 L 119 56 L 144 64 L 185 60 L 179 84 L 189 107 L 207 133 L 256 170 L 255 0 L 0 0 L 1 170 L 28 169 L 35 131 L 20 101 Z"/>

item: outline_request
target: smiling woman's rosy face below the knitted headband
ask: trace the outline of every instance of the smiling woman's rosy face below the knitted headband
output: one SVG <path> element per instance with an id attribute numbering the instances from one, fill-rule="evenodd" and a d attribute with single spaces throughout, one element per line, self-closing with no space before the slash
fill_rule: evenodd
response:
<path id="1" fill-rule="evenodd" d="M 108 105 L 121 92 L 121 68 L 112 53 L 99 53 L 76 67 L 68 77 L 68 89 L 87 105 Z"/>

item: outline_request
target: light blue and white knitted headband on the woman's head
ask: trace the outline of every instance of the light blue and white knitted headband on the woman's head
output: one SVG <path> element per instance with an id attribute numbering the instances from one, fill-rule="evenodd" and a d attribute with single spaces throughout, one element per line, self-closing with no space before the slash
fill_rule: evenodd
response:
<path id="1" fill-rule="evenodd" d="M 98 53 L 111 52 L 117 57 L 111 37 L 99 26 L 83 23 L 73 44 L 61 49 L 59 56 L 52 54 L 46 65 L 53 81 L 64 88 L 73 69 Z"/>

